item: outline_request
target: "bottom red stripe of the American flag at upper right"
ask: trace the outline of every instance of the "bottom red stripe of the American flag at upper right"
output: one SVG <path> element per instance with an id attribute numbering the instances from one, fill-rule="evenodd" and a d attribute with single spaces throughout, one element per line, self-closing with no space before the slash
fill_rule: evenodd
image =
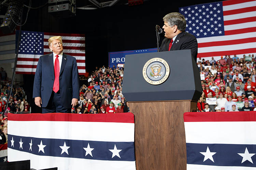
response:
<path id="1" fill-rule="evenodd" d="M 221 56 L 224 54 L 248 54 L 248 53 L 254 53 L 255 51 L 256 51 L 256 48 L 217 51 L 217 52 L 205 52 L 205 53 L 198 53 L 197 57 Z"/>

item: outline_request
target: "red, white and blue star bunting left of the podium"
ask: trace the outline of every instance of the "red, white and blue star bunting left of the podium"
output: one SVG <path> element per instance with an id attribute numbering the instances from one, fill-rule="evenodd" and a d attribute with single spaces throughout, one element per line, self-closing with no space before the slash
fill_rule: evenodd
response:
<path id="1" fill-rule="evenodd" d="M 34 169 L 136 170 L 134 115 L 8 114 L 8 161 L 19 160 Z"/>

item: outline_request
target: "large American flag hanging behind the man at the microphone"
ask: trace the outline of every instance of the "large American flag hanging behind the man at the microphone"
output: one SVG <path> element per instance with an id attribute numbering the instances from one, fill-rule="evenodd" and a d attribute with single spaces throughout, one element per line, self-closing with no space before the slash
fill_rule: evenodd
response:
<path id="1" fill-rule="evenodd" d="M 229 0 L 180 7 L 186 32 L 198 41 L 197 57 L 256 52 L 256 1 Z"/>

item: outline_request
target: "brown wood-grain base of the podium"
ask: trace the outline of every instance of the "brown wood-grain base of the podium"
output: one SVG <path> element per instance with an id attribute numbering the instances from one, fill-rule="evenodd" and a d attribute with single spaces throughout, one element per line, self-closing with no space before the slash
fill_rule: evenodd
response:
<path id="1" fill-rule="evenodd" d="M 135 117 L 137 170 L 186 170 L 183 114 L 197 101 L 129 102 Z"/>

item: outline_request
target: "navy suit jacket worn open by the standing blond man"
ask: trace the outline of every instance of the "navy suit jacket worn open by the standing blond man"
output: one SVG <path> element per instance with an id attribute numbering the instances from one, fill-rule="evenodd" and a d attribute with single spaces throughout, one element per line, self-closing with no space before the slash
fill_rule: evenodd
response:
<path id="1" fill-rule="evenodd" d="M 42 98 L 42 107 L 46 107 L 53 91 L 54 64 L 53 53 L 39 58 L 35 71 L 33 98 Z M 59 74 L 59 91 L 64 107 L 71 108 L 73 98 L 79 99 L 79 74 L 75 57 L 64 54 Z"/>

